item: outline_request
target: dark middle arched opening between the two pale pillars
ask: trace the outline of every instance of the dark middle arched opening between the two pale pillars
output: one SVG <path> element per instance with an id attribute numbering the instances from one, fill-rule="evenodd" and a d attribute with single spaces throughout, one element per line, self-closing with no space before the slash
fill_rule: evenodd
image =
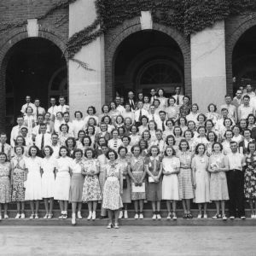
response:
<path id="1" fill-rule="evenodd" d="M 184 61 L 177 42 L 164 32 L 135 32 L 119 44 L 114 59 L 114 90 L 126 96 L 128 90 L 151 88 L 166 90 L 167 95 L 181 86 L 184 93 Z"/>

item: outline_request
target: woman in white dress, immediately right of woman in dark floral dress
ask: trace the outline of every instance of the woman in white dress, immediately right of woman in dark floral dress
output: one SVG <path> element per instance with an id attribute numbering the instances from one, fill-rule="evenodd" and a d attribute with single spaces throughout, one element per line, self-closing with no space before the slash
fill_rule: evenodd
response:
<path id="1" fill-rule="evenodd" d="M 30 201 L 32 215 L 30 218 L 38 218 L 39 201 L 42 199 L 42 179 L 40 168 L 42 159 L 37 156 L 39 149 L 36 146 L 29 148 L 28 154 L 30 157 L 26 158 L 26 191 L 25 201 Z M 36 210 L 34 209 L 34 201 L 36 202 Z"/>

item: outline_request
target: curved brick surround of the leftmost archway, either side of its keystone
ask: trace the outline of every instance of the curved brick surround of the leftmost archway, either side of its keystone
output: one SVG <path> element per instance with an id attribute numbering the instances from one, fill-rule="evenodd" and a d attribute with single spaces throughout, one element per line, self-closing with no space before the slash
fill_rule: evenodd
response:
<path id="1" fill-rule="evenodd" d="M 6 71 L 9 59 L 12 55 L 12 49 L 15 44 L 23 39 L 29 38 L 26 31 L 26 26 L 16 28 L 7 33 L 7 38 L 3 44 L 0 45 L 0 131 L 5 131 L 5 114 L 6 114 Z M 67 55 L 65 54 L 66 40 L 61 35 L 53 32 L 48 27 L 39 26 L 38 37 L 44 38 L 55 44 L 62 52 L 67 62 Z"/>

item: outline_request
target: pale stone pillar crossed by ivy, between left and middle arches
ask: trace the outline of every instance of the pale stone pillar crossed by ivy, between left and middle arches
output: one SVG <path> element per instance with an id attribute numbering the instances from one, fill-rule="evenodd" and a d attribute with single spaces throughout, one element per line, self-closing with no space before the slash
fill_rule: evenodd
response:
<path id="1" fill-rule="evenodd" d="M 78 0 L 69 6 L 69 37 L 84 27 L 91 25 L 96 19 L 95 0 Z M 69 61 L 69 105 L 71 117 L 76 110 L 86 113 L 89 106 L 95 106 L 101 113 L 105 102 L 105 67 L 104 67 L 104 37 L 97 38 L 85 45 L 74 56 L 84 61 L 93 71 L 85 70 L 73 61 Z"/>

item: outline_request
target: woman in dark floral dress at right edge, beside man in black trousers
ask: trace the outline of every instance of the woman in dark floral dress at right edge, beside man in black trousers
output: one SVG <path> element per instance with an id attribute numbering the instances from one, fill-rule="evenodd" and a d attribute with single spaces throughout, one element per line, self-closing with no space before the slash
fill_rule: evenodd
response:
<path id="1" fill-rule="evenodd" d="M 249 153 L 246 155 L 246 172 L 244 175 L 244 195 L 249 201 L 251 218 L 256 218 L 256 152 L 255 143 L 248 143 Z M 254 201 L 254 210 L 253 210 Z"/>

